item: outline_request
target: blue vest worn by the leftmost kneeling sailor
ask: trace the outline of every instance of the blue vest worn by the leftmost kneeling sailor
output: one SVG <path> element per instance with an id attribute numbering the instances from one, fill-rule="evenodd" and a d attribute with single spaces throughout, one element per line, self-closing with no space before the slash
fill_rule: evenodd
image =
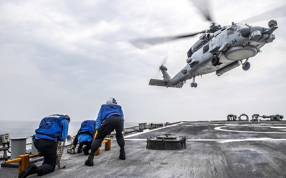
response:
<path id="1" fill-rule="evenodd" d="M 65 118 L 65 115 L 54 114 L 47 116 L 41 120 L 39 128 L 35 130 L 36 136 L 46 135 L 53 139 L 58 138 L 63 131 L 61 121 Z"/>

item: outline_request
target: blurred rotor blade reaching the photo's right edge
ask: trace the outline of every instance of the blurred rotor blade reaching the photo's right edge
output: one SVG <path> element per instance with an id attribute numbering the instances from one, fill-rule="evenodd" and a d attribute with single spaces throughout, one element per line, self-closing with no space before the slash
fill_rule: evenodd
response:
<path id="1" fill-rule="evenodd" d="M 262 20 L 271 20 L 271 19 L 273 19 L 275 17 L 283 17 L 283 16 L 286 16 L 285 8 L 286 8 L 286 4 L 284 4 L 283 6 L 280 6 L 278 8 L 269 10 L 269 11 L 267 11 L 265 13 L 261 13 L 259 15 L 247 18 L 245 20 L 242 20 L 239 23 L 243 23 L 243 24 L 247 23 L 247 24 L 249 24 L 249 23 L 259 22 L 259 21 L 262 21 Z"/>

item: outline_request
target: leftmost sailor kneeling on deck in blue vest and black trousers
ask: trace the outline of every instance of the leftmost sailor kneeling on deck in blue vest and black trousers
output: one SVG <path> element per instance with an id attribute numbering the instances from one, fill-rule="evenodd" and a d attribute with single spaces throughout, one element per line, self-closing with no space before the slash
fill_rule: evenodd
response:
<path id="1" fill-rule="evenodd" d="M 44 156 L 41 166 L 31 163 L 27 169 L 19 174 L 19 178 L 25 178 L 28 175 L 44 175 L 53 172 L 57 160 L 57 142 L 65 141 L 68 135 L 69 116 L 65 114 L 54 114 L 42 119 L 36 134 L 33 135 L 34 145 Z"/>

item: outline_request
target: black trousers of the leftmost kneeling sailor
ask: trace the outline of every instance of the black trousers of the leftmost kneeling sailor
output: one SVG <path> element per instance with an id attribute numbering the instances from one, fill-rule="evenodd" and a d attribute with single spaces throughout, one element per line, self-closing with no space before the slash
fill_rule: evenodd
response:
<path id="1" fill-rule="evenodd" d="M 40 166 L 42 169 L 38 175 L 44 175 L 53 172 L 57 161 L 57 144 L 49 139 L 34 139 L 34 145 L 44 156 L 44 162 Z"/>

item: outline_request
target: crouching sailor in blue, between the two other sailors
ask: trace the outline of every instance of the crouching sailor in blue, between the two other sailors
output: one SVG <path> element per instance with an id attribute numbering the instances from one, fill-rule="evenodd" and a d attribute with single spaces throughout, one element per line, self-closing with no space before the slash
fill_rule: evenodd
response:
<path id="1" fill-rule="evenodd" d="M 77 153 L 81 153 L 81 149 L 85 155 L 89 154 L 93 138 L 96 136 L 96 122 L 94 120 L 86 120 L 81 123 L 80 129 L 74 137 L 72 148 L 76 147 L 76 144 L 80 142 L 77 149 Z M 82 147 L 83 145 L 86 145 Z"/>

